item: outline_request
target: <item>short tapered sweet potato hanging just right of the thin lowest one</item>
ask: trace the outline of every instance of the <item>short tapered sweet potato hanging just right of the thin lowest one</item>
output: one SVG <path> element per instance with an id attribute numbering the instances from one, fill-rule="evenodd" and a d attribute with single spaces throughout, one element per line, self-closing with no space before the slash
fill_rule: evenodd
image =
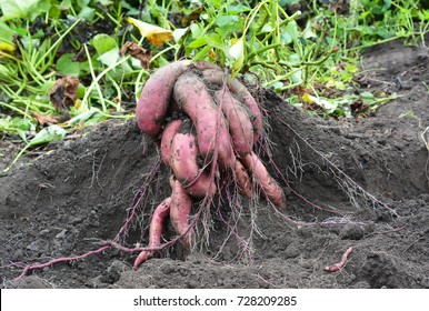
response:
<path id="1" fill-rule="evenodd" d="M 192 209 L 192 200 L 180 181 L 174 180 L 173 177 L 170 177 L 170 187 L 172 189 L 170 204 L 171 224 L 179 235 L 184 234 L 181 241 L 184 249 L 189 251 L 192 245 L 192 231 L 189 230 L 189 214 Z"/>

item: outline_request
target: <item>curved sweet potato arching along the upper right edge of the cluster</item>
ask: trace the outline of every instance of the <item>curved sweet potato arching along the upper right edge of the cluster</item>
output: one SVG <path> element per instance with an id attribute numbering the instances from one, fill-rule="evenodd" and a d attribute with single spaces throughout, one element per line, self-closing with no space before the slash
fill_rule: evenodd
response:
<path id="1" fill-rule="evenodd" d="M 214 84 L 220 88 L 223 87 L 223 82 L 226 81 L 229 90 L 237 96 L 240 102 L 246 104 L 249 109 L 249 119 L 253 127 L 253 142 L 257 142 L 263 134 L 262 113 L 258 102 L 248 89 L 237 79 L 232 79 L 231 76 L 225 77 L 225 72 L 221 70 L 206 69 L 201 71 L 201 76 L 206 83 Z"/>

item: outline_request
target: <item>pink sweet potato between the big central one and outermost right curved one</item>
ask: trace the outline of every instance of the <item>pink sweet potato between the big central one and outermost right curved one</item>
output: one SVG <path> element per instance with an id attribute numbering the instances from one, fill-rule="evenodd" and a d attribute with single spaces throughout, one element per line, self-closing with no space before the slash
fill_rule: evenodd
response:
<path id="1" fill-rule="evenodd" d="M 253 127 L 245 108 L 238 102 L 228 89 L 214 92 L 214 100 L 228 120 L 231 134 L 232 148 L 238 156 L 245 158 L 253 147 Z"/>

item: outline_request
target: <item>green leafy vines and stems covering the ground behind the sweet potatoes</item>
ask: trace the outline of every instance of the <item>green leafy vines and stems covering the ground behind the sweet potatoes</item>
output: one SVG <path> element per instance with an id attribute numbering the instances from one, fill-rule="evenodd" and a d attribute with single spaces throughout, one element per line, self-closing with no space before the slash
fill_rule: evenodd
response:
<path id="1" fill-rule="evenodd" d="M 247 77 L 258 77 L 289 103 L 323 118 L 353 119 L 353 103 L 363 102 L 369 111 L 396 98 L 350 91 L 360 54 L 395 39 L 425 46 L 429 10 L 405 0 L 350 0 L 338 8 L 302 3 L 3 0 L 0 136 L 19 138 L 22 154 L 76 128 L 133 118 L 150 72 L 183 57 L 251 73 Z M 139 32 L 128 18 L 161 29 Z M 127 42 L 144 49 L 144 62 L 120 54 Z M 53 94 L 60 97 L 56 102 L 54 86 L 70 87 L 58 86 L 66 76 L 79 83 L 71 94 Z"/>

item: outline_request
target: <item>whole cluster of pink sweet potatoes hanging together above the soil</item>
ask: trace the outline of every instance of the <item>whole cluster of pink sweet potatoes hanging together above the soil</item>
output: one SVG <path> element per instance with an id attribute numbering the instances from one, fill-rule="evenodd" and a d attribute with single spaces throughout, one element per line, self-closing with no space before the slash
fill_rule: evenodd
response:
<path id="1" fill-rule="evenodd" d="M 159 248 L 168 215 L 184 248 L 191 248 L 192 204 L 212 198 L 227 175 L 242 195 L 253 198 L 258 188 L 271 203 L 286 207 L 282 189 L 253 152 L 263 136 L 259 104 L 216 64 L 184 60 L 159 69 L 144 84 L 136 117 L 173 172 L 171 195 L 153 212 L 148 250 L 136 259 L 136 269 Z"/>

